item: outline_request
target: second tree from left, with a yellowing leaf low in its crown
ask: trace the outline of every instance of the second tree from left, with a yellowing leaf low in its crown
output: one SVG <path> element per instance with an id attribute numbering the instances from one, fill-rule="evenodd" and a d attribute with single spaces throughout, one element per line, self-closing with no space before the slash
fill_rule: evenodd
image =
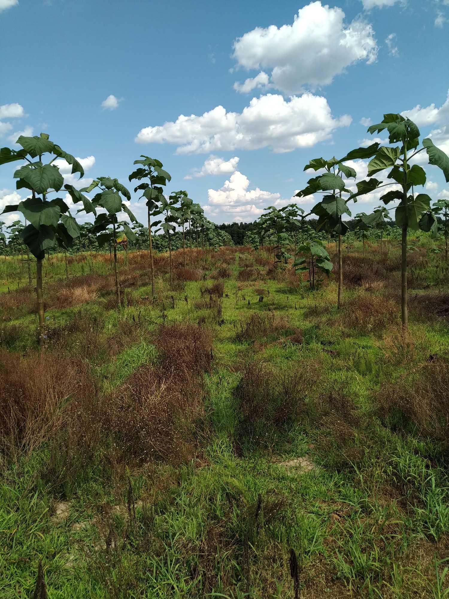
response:
<path id="1" fill-rule="evenodd" d="M 128 206 L 123 203 L 120 193 L 126 199 L 131 199 L 131 194 L 128 189 L 119 183 L 117 179 L 111 179 L 110 177 L 98 177 L 98 180 L 92 181 L 89 187 L 86 187 L 83 191 L 90 192 L 96 187 L 99 187 L 101 191 L 96 193 L 93 198 L 92 204 L 95 208 L 104 208 L 104 212 L 98 214 L 93 223 L 90 231 L 97 235 L 97 241 L 99 247 L 104 246 L 110 241 L 114 246 L 114 274 L 116 277 L 116 294 L 117 294 L 117 307 L 120 308 L 122 305 L 122 298 L 120 297 L 120 285 L 119 285 L 119 274 L 117 272 L 117 244 L 122 244 L 126 249 L 127 240 L 134 241 L 136 236 L 132 232 L 131 227 L 125 221 L 119 221 L 117 214 L 125 212 L 128 214 L 131 222 L 137 222 L 134 214 L 129 210 Z M 112 228 L 111 228 L 112 227 Z"/>

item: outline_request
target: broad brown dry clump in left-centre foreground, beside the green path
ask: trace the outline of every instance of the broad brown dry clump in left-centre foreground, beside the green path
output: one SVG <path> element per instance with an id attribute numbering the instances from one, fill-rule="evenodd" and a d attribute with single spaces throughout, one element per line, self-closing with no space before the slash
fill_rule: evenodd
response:
<path id="1" fill-rule="evenodd" d="M 202 395 L 201 380 L 182 364 L 166 373 L 142 366 L 102 398 L 102 429 L 128 457 L 183 462 L 193 453 Z"/>

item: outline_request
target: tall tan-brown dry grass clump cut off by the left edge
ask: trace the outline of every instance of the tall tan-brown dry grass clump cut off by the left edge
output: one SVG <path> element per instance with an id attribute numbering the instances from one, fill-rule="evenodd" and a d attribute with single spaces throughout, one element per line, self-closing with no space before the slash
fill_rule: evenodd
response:
<path id="1" fill-rule="evenodd" d="M 65 404 L 92 398 L 95 386 L 84 365 L 52 353 L 23 358 L 0 350 L 2 452 L 32 452 L 66 424 Z"/>

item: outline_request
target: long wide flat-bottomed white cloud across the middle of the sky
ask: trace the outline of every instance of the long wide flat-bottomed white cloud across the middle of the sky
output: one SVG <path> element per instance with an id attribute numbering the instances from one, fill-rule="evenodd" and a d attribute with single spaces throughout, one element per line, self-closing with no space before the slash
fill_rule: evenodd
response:
<path id="1" fill-rule="evenodd" d="M 181 114 L 175 122 L 141 129 L 135 141 L 177 144 L 177 154 L 263 147 L 290 152 L 327 140 L 334 129 L 350 123 L 347 114 L 334 119 L 323 96 L 304 93 L 286 101 L 267 94 L 253 98 L 241 113 L 217 106 L 201 116 Z"/>

